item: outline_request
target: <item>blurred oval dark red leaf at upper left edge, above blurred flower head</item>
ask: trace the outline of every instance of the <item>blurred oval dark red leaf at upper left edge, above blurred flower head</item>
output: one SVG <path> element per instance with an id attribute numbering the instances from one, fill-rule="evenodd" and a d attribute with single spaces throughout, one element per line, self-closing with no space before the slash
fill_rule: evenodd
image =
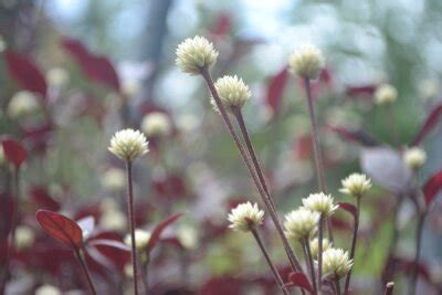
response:
<path id="1" fill-rule="evenodd" d="M 46 96 L 48 85 L 44 75 L 33 61 L 22 53 L 7 50 L 4 52 L 8 71 L 17 82 L 27 91 L 36 92 Z"/>

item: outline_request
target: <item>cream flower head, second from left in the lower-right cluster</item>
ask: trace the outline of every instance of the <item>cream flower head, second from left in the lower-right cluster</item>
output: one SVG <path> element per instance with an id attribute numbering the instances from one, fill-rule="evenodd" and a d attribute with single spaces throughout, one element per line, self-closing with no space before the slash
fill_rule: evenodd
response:
<path id="1" fill-rule="evenodd" d="M 285 215 L 285 232 L 293 240 L 309 239 L 315 234 L 318 221 L 317 212 L 299 207 Z"/>

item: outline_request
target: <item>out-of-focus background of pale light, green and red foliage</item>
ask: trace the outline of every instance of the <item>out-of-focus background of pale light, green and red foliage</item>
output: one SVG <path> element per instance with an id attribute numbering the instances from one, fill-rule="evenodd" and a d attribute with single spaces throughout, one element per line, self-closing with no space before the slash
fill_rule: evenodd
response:
<path id="1" fill-rule="evenodd" d="M 135 166 L 137 222 L 149 230 L 173 212 L 185 215 L 151 255 L 152 292 L 272 294 L 270 273 L 252 238 L 227 230 L 230 208 L 259 201 L 257 192 L 212 112 L 202 78 L 175 65 L 177 44 L 200 34 L 220 52 L 213 76 L 238 74 L 252 88 L 244 116 L 281 213 L 316 191 L 304 89 L 287 73 L 287 57 L 304 43 L 324 51 L 327 67 L 313 86 L 327 186 L 338 201 L 352 201 L 338 192 L 341 178 L 364 171 L 376 180 L 362 201 L 354 286 L 360 294 L 379 294 L 398 194 L 392 187 L 400 180 L 382 173 L 387 162 L 370 158 L 361 167 L 360 159 L 373 143 L 409 145 L 441 103 L 441 15 L 439 0 L 1 0 L 0 134 L 20 138 L 30 152 L 21 181 L 20 224 L 32 229 L 32 242 L 13 261 L 11 287 L 30 294 L 42 284 L 63 291 L 82 285 L 69 256 L 54 254 L 51 263 L 44 262 L 48 249 L 64 250 L 35 224 L 38 208 L 76 219 L 92 214 L 97 226 L 124 236 L 124 166 L 107 151 L 109 138 L 123 127 L 140 128 L 146 114 L 161 112 L 169 117 L 170 131 L 150 138 L 151 151 Z M 45 92 L 44 81 L 35 82 L 35 73 L 20 59 L 10 61 L 11 52 L 36 65 Z M 36 105 L 11 106 L 12 97 L 27 88 L 17 75 L 36 85 Z M 398 88 L 391 107 L 372 99 L 376 86 L 385 82 Z M 364 135 L 343 136 L 346 130 Z M 424 181 L 441 168 L 441 133 L 431 131 L 421 147 L 429 157 L 420 172 Z M 440 213 L 435 202 L 424 229 L 420 288 L 427 293 L 421 294 L 441 289 Z M 402 203 L 397 215 L 401 238 L 394 256 L 404 265 L 397 274 L 401 294 L 406 262 L 414 253 L 412 204 Z M 334 223 L 337 244 L 348 249 L 350 217 L 339 213 Z M 267 220 L 263 235 L 284 270 L 284 253 Z M 124 277 L 124 261 L 109 260 Z M 109 278 L 101 267 L 96 265 L 94 275 L 103 292 L 110 292 L 104 282 L 129 282 Z"/>

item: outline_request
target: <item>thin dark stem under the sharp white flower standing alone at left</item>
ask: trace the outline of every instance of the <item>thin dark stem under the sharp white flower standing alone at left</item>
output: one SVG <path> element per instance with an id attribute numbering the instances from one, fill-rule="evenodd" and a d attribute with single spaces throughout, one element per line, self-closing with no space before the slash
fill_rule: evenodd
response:
<path id="1" fill-rule="evenodd" d="M 126 161 L 126 170 L 127 170 L 127 212 L 130 225 L 131 265 L 134 271 L 134 294 L 138 295 L 138 264 L 137 264 L 137 245 L 135 240 L 134 189 L 133 189 L 130 160 Z"/>

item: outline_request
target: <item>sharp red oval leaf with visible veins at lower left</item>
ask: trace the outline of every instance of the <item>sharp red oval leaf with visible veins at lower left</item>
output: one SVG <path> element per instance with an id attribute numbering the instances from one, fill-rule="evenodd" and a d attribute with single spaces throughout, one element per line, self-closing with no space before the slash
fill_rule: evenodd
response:
<path id="1" fill-rule="evenodd" d="M 82 229 L 75 221 L 48 210 L 36 211 L 35 218 L 43 230 L 55 240 L 76 249 L 82 246 Z"/>

